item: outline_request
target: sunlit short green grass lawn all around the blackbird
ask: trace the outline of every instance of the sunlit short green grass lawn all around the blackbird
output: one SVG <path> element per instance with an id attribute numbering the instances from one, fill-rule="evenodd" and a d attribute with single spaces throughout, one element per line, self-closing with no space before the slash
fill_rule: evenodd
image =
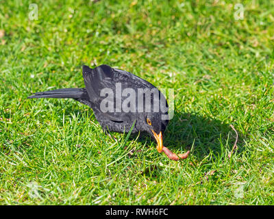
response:
<path id="1" fill-rule="evenodd" d="M 273 205 L 274 3 L 0 1 L 1 205 Z M 175 89 L 164 145 L 106 136 L 92 110 L 32 92 L 109 64 Z M 238 150 L 228 157 L 238 132 Z"/>

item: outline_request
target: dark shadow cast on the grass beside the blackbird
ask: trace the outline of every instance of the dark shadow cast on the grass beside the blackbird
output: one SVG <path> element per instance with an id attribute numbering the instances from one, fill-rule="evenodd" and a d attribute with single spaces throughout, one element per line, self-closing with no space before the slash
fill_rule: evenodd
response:
<path id="1" fill-rule="evenodd" d="M 241 153 L 244 139 L 245 136 L 239 131 L 236 133 L 229 124 L 199 114 L 175 113 L 164 133 L 164 145 L 171 151 L 191 150 L 197 159 L 210 153 L 221 155 L 225 150 L 232 151 L 235 143 Z"/>

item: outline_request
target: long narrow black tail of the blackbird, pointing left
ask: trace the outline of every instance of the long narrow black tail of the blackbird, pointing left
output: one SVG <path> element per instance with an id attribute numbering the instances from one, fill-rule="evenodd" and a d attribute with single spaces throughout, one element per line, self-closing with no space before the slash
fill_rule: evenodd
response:
<path id="1" fill-rule="evenodd" d="M 86 88 L 64 88 L 58 90 L 48 90 L 45 92 L 37 92 L 32 96 L 27 96 L 27 99 L 32 98 L 72 98 L 86 99 L 88 96 Z"/>

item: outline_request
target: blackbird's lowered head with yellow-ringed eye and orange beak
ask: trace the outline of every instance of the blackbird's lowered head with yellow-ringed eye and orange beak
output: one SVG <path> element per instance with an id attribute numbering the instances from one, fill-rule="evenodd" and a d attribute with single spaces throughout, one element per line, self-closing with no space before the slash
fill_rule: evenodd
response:
<path id="1" fill-rule="evenodd" d="M 143 129 L 157 141 L 157 151 L 162 152 L 162 133 L 166 129 L 169 120 L 162 120 L 162 113 L 146 113 L 143 118 Z"/>

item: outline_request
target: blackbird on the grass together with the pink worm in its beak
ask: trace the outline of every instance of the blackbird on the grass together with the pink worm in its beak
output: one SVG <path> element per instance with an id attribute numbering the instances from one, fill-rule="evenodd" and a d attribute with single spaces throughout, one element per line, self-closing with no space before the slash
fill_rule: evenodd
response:
<path id="1" fill-rule="evenodd" d="M 168 104 L 162 92 L 151 83 L 125 70 L 108 65 L 83 66 L 85 88 L 64 88 L 36 92 L 33 98 L 75 99 L 92 108 L 104 131 L 149 133 L 157 141 L 158 152 L 170 159 L 184 159 L 187 154 L 171 153 L 162 144 L 162 133 L 169 123 Z"/>

